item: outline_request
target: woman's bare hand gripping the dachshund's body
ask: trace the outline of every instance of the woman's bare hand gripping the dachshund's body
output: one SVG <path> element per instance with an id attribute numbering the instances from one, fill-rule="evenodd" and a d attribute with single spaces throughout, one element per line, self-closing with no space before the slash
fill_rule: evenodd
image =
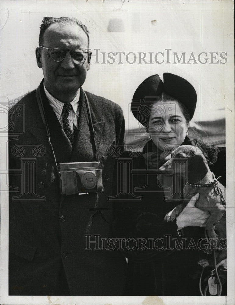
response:
<path id="1" fill-rule="evenodd" d="M 210 213 L 202 211 L 195 207 L 195 203 L 199 198 L 199 193 L 196 193 L 189 201 L 187 206 L 183 209 L 178 217 L 176 217 L 176 224 L 178 230 L 184 227 L 205 227 Z"/>

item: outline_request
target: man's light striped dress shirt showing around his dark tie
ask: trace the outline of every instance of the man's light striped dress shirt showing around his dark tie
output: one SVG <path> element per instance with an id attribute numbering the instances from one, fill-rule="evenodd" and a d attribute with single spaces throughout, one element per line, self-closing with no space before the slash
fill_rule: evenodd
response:
<path id="1" fill-rule="evenodd" d="M 55 112 L 56 117 L 59 120 L 59 123 L 63 127 L 63 116 L 62 110 L 64 107 L 64 103 L 60 102 L 54 96 L 52 96 L 46 89 L 45 84 L 43 83 L 45 94 L 48 98 L 50 105 L 52 106 L 53 111 Z M 70 102 L 72 105 L 72 111 L 70 110 L 69 120 L 73 122 L 73 124 L 77 127 L 78 126 L 78 116 L 79 116 L 79 98 L 80 98 L 80 88 L 77 92 L 75 98 Z"/>

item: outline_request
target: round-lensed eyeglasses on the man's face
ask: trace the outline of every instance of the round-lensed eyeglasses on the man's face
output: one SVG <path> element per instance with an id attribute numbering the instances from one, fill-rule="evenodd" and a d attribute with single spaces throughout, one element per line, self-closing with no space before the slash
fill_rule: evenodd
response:
<path id="1" fill-rule="evenodd" d="M 59 48 L 54 48 L 54 49 L 46 48 L 41 45 L 39 47 L 50 51 L 51 58 L 56 62 L 62 61 L 65 58 L 66 53 L 69 52 L 71 57 L 73 58 L 74 63 L 84 63 L 84 61 L 87 58 L 87 53 L 88 53 L 87 51 L 84 51 L 82 49 L 70 51 L 70 50 L 62 50 Z"/>

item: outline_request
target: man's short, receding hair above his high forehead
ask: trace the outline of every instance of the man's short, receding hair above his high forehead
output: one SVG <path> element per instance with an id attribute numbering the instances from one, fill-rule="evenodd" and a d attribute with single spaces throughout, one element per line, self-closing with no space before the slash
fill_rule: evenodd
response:
<path id="1" fill-rule="evenodd" d="M 45 33 L 45 30 L 52 25 L 53 23 L 59 23 L 59 24 L 77 24 L 87 35 L 88 38 L 88 48 L 90 44 L 90 38 L 89 38 L 89 31 L 87 30 L 87 27 L 77 20 L 77 18 L 69 18 L 69 17 L 44 17 L 40 26 L 40 33 L 39 33 L 39 45 L 43 45 L 43 35 Z"/>

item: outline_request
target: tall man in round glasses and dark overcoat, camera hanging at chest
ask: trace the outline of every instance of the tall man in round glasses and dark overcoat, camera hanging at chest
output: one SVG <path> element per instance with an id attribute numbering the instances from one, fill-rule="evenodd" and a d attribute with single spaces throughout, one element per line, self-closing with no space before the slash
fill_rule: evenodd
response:
<path id="1" fill-rule="evenodd" d="M 87 240 L 110 237 L 107 198 L 114 162 L 108 150 L 113 143 L 123 149 L 122 109 L 86 92 L 104 192 L 62 197 L 55 159 L 57 164 L 91 162 L 95 154 L 81 87 L 90 69 L 87 28 L 76 19 L 44 17 L 36 58 L 44 75 L 37 92 L 55 157 L 34 90 L 9 117 L 14 121 L 14 137 L 9 137 L 9 295 L 121 295 L 125 259 L 97 243 L 96 250 L 89 250 Z"/>

